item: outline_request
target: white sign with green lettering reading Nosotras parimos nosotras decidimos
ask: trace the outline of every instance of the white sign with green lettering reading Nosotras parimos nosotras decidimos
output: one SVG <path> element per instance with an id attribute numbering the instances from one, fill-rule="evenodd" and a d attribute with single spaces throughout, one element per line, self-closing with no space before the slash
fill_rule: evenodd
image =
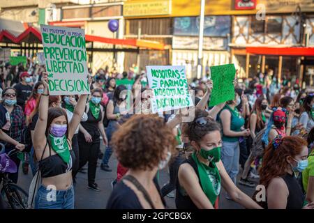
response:
<path id="1" fill-rule="evenodd" d="M 193 106 L 184 66 L 147 66 L 153 113 Z"/>

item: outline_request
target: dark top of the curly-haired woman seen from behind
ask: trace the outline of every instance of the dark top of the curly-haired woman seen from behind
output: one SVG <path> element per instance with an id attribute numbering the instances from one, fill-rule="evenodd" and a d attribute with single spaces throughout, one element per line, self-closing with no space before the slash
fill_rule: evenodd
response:
<path id="1" fill-rule="evenodd" d="M 160 194 L 160 187 L 158 185 L 158 180 L 155 177 L 154 183 Z M 161 197 L 161 201 L 165 206 L 165 200 Z M 133 192 L 130 187 L 125 185 L 122 180 L 120 180 L 117 185 L 114 186 L 114 190 L 112 191 L 110 198 L 107 202 L 106 209 L 143 209 L 140 201 L 138 200 L 135 192 Z"/>

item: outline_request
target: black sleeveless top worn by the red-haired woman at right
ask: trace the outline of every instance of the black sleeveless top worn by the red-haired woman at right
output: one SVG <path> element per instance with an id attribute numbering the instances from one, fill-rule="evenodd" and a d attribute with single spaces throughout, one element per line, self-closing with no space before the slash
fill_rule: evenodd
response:
<path id="1" fill-rule="evenodd" d="M 289 196 L 287 197 L 287 206 L 285 207 L 285 209 L 302 209 L 305 196 L 302 192 L 297 178 L 295 178 L 295 176 L 292 174 L 285 174 L 285 176 L 282 176 L 281 178 L 283 178 L 289 190 Z M 263 208 L 267 208 L 267 206 L 268 205 L 266 202 L 266 206 L 263 206 Z"/>

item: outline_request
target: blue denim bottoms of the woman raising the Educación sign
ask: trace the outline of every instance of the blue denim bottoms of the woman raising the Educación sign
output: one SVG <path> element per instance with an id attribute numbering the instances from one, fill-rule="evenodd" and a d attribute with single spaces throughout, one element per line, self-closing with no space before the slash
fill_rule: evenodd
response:
<path id="1" fill-rule="evenodd" d="M 74 189 L 49 190 L 41 185 L 38 188 L 35 209 L 74 209 Z"/>

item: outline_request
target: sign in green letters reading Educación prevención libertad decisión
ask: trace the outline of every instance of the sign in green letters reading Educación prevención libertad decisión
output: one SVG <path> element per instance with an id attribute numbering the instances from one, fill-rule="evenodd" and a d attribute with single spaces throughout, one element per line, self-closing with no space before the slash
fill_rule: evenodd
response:
<path id="1" fill-rule="evenodd" d="M 50 95 L 89 94 L 84 29 L 40 26 Z"/>

